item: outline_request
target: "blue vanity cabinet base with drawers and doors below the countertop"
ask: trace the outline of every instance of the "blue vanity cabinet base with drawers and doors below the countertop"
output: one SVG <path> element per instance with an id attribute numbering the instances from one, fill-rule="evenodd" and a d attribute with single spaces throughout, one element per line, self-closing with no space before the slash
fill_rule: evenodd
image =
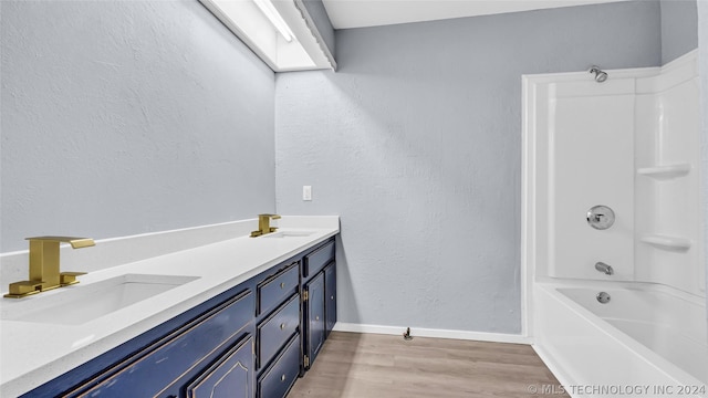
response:
<path id="1" fill-rule="evenodd" d="M 20 398 L 283 398 L 336 322 L 334 241 L 296 253 Z"/>

